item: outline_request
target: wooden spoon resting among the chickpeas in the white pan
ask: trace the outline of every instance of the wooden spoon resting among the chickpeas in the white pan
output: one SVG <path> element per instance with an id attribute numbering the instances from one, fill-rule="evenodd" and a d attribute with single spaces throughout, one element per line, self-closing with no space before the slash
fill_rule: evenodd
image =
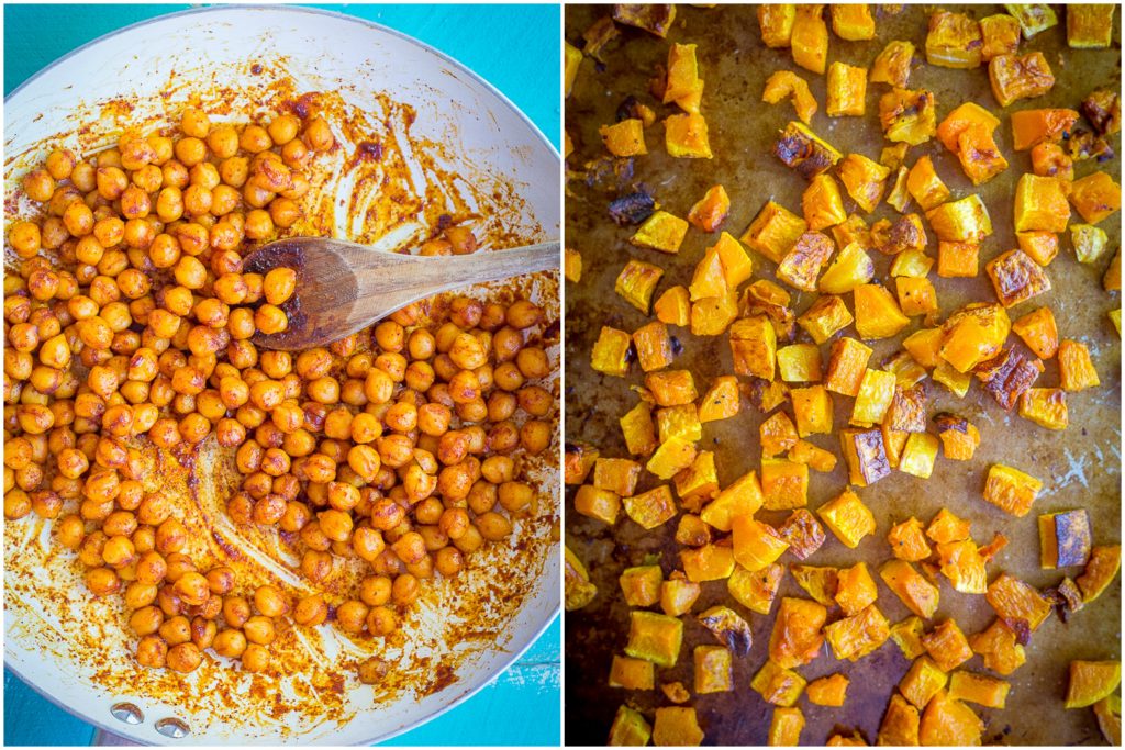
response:
<path id="1" fill-rule="evenodd" d="M 297 291 L 281 305 L 289 327 L 255 334 L 264 349 L 322 346 L 433 295 L 482 281 L 559 266 L 559 243 L 469 255 L 404 255 L 331 237 L 279 240 L 246 256 L 248 273 L 297 271 Z"/>

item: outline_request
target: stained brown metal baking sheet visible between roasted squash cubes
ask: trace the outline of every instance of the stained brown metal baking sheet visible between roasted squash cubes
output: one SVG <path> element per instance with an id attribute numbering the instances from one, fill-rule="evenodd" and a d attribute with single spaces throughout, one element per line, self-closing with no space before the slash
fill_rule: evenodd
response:
<path id="1" fill-rule="evenodd" d="M 870 66 L 875 55 L 891 39 L 908 39 L 917 48 L 916 56 L 924 57 L 927 19 L 935 6 L 907 6 L 898 15 L 880 12 L 876 39 L 866 43 L 844 42 L 829 33 L 829 64 L 844 61 L 853 65 Z M 947 8 L 943 6 L 943 8 Z M 649 154 L 633 160 L 632 179 L 623 181 L 621 193 L 631 192 L 632 186 L 645 186 L 668 211 L 684 217 L 692 205 L 713 184 L 722 184 L 730 196 L 731 210 L 721 229 L 736 237 L 749 225 L 759 208 L 770 198 L 800 214 L 801 192 L 806 181 L 785 168 L 772 153 L 776 132 L 789 120 L 796 119 L 786 101 L 776 106 L 760 102 L 766 78 L 776 70 L 793 70 L 810 82 L 820 109 L 812 119 L 812 129 L 844 154 L 858 152 L 879 160 L 880 151 L 891 145 L 882 138 L 878 124 L 878 100 L 888 89 L 883 84 L 868 84 L 866 115 L 862 118 L 828 118 L 824 114 L 825 76 L 796 67 L 788 49 L 768 49 L 760 40 L 755 8 L 720 6 L 713 9 L 677 6 L 676 21 L 667 39 L 623 26 L 621 37 L 611 42 L 602 54 L 603 63 L 583 61 L 574 91 L 566 101 L 566 132 L 575 145 L 575 153 L 567 160 L 570 170 L 566 183 L 567 246 L 583 255 L 584 273 L 580 283 L 566 287 L 566 437 L 570 442 L 586 441 L 598 446 L 604 457 L 628 457 L 618 418 L 637 401 L 630 387 L 642 382 L 644 373 L 633 365 L 628 378 L 605 377 L 590 369 L 590 351 L 603 325 L 632 332 L 648 322 L 613 292 L 613 282 L 630 257 L 662 265 L 665 277 L 654 295 L 656 299 L 665 289 L 691 281 L 692 271 L 703 249 L 714 243 L 716 235 L 704 234 L 694 227 L 678 255 L 669 256 L 655 251 L 629 245 L 627 240 L 636 227 L 618 227 L 609 218 L 606 204 L 618 195 L 608 189 L 609 181 L 587 183 L 585 164 L 606 155 L 597 128 L 615 121 L 618 106 L 629 94 L 652 106 L 657 118 L 680 111 L 674 106 L 663 107 L 648 93 L 649 80 L 657 65 L 666 65 L 672 42 L 695 43 L 700 78 L 705 80 L 702 114 L 705 116 L 713 160 L 676 160 L 667 156 L 659 121 L 646 130 Z M 582 35 L 591 24 L 609 16 L 608 6 L 568 6 L 565 15 L 566 39 L 579 48 Z M 973 6 L 968 10 L 980 19 L 994 12 L 1005 12 L 1001 6 Z M 930 273 L 943 317 L 966 301 L 994 300 L 994 292 L 984 275 L 984 264 L 992 257 L 1016 246 L 1011 226 L 1011 195 L 1015 181 L 1030 172 L 1028 152 L 1011 147 L 1011 128 L 1008 115 L 1020 109 L 1042 107 L 1070 107 L 1078 109 L 1087 93 L 1096 88 L 1120 87 L 1119 10 L 1115 17 L 1114 43 L 1109 49 L 1073 51 L 1066 47 L 1064 10 L 1058 9 L 1060 24 L 1025 40 L 1020 52 L 1042 51 L 1054 71 L 1056 83 L 1045 96 L 1020 100 L 1004 110 L 1001 126 L 996 137 L 1010 166 L 1000 177 L 980 188 L 973 188 L 961 171 L 956 159 L 936 139 L 911 147 L 906 164 L 912 164 L 926 154 L 934 160 L 938 174 L 953 191 L 954 198 L 978 192 L 992 218 L 994 234 L 981 247 L 981 274 L 975 279 L 942 279 Z M 826 11 L 827 16 L 827 11 Z M 963 101 L 976 101 L 991 111 L 999 110 L 988 84 L 987 70 L 950 70 L 917 65 L 910 75 L 911 89 L 928 89 L 937 99 L 937 121 Z M 1087 126 L 1088 127 L 1088 126 Z M 1120 153 L 1119 135 L 1110 143 Z M 1105 163 L 1083 161 L 1076 163 L 1076 178 L 1094 170 L 1102 170 L 1120 181 L 1120 161 L 1115 157 Z M 845 197 L 847 201 L 847 198 Z M 917 208 L 908 208 L 917 210 Z M 885 205 L 871 216 L 897 216 Z M 1072 222 L 1080 222 L 1077 213 Z M 1101 274 L 1120 242 L 1120 215 L 1114 214 L 1099 225 L 1109 235 L 1109 252 L 1094 265 L 1076 261 L 1070 249 L 1069 233 L 1061 235 L 1059 257 L 1047 272 L 1052 291 L 1016 306 L 1010 310 L 1015 319 L 1044 304 L 1050 305 L 1059 322 L 1060 337 L 1074 338 L 1090 347 L 1101 386 L 1068 395 L 1070 427 L 1055 433 L 1027 422 L 1015 414 L 1005 414 L 983 394 L 974 381 L 963 399 L 956 399 L 944 387 L 929 381 L 930 406 L 928 414 L 952 410 L 968 417 L 981 433 L 981 445 L 971 462 L 956 462 L 938 457 L 929 480 L 893 472 L 876 485 L 858 489 L 863 501 L 874 512 L 876 532 L 866 537 L 856 550 L 845 548 L 830 532 L 825 544 L 806 561 L 816 566 L 850 566 L 866 561 L 878 580 L 878 606 L 891 623 L 899 622 L 910 612 L 890 593 L 875 576 L 879 566 L 890 559 L 885 542 L 888 528 L 911 515 L 922 523 L 942 507 L 972 521 L 973 537 L 981 544 L 994 531 L 1008 535 L 1010 543 L 990 564 L 990 579 L 1007 571 L 1041 588 L 1054 586 L 1063 571 L 1041 570 L 1038 567 L 1038 535 L 1036 516 L 1043 513 L 1086 507 L 1090 514 L 1095 544 L 1120 542 L 1120 341 L 1106 313 L 1120 305 L 1117 292 L 1101 289 Z M 929 254 L 936 257 L 936 238 L 928 224 Z M 752 253 L 753 254 L 753 253 Z M 754 279 L 773 279 L 773 263 L 754 255 Z M 878 255 L 878 253 L 873 253 Z M 878 257 L 876 278 L 885 278 L 888 259 Z M 788 291 L 793 292 L 786 287 Z M 794 293 L 798 314 L 803 311 L 814 295 Z M 845 297 L 849 309 L 850 297 Z M 919 326 L 915 318 L 906 332 L 893 340 L 878 342 L 872 362 L 897 351 L 893 341 Z M 726 335 L 694 337 L 686 329 L 672 329 L 684 350 L 673 368 L 687 368 L 702 392 L 717 376 L 734 372 Z M 855 335 L 850 333 L 849 335 Z M 1012 335 L 1009 342 L 1016 342 Z M 870 342 L 868 342 L 870 343 Z M 1022 347 L 1022 343 L 1016 343 Z M 828 345 L 821 346 L 827 361 Z M 1025 351 L 1026 353 L 1026 351 Z M 1037 386 L 1058 383 L 1058 365 L 1045 362 L 1046 371 Z M 834 398 L 835 428 L 846 425 L 853 399 Z M 790 410 L 786 408 L 786 410 Z M 791 414 L 791 410 L 790 410 Z M 700 448 L 716 451 L 720 486 L 726 486 L 759 462 L 758 424 L 762 415 L 744 397 L 741 413 L 731 419 L 708 423 L 703 427 Z M 821 448 L 839 453 L 838 436 L 814 435 L 810 440 Z M 1004 462 L 1023 469 L 1043 480 L 1045 487 L 1032 513 L 1024 518 L 1012 518 L 981 499 L 983 477 L 988 467 Z M 847 482 L 846 469 L 840 461 L 831 473 L 810 472 L 809 508 L 814 509 L 835 497 Z M 638 493 L 659 482 L 642 472 Z M 568 487 L 566 504 L 566 542 L 586 563 L 598 595 L 585 609 L 569 612 L 566 616 L 566 740 L 568 744 L 602 744 L 618 706 L 622 703 L 640 710 L 652 720 L 652 711 L 674 705 L 659 689 L 628 692 L 608 687 L 610 662 L 613 654 L 622 654 L 628 640 L 629 608 L 618 584 L 618 576 L 629 566 L 640 564 L 647 555 L 659 557 L 667 576 L 678 568 L 677 545 L 673 541 L 677 519 L 645 532 L 623 513 L 616 526 L 588 519 L 574 512 L 574 489 Z M 789 512 L 759 512 L 767 523 L 781 523 Z M 791 554 L 781 562 L 792 563 Z M 1071 577 L 1079 569 L 1065 571 Z M 929 625 L 945 617 L 954 617 L 966 634 L 986 627 L 993 618 L 991 607 L 983 596 L 954 591 L 946 580 L 939 585 L 940 606 Z M 778 599 L 783 596 L 808 595 L 786 572 Z M 684 645 L 680 661 L 673 669 L 657 668 L 657 685 L 681 680 L 692 689 L 692 657 L 694 645 L 714 643 L 694 615 L 714 604 L 726 604 L 747 617 L 754 631 L 754 648 L 748 657 L 735 659 L 735 689 L 731 693 L 692 697 L 700 724 L 706 734 L 705 743 L 764 744 L 773 706 L 762 701 L 749 688 L 749 681 L 765 662 L 770 632 L 777 603 L 768 616 L 749 613 L 735 602 L 726 589 L 726 581 L 703 584 L 703 595 L 685 615 Z M 839 616 L 838 609 L 830 617 Z M 1091 710 L 1065 711 L 1062 699 L 1066 688 L 1066 666 L 1072 659 L 1120 658 L 1120 579 L 1118 578 L 1092 605 L 1063 624 L 1054 616 L 1034 635 L 1027 647 L 1027 663 L 1010 676 L 1012 689 L 1007 707 L 1002 711 L 973 706 L 986 722 L 986 742 L 1010 744 L 1100 744 L 1104 742 Z M 799 671 L 810 681 L 817 677 L 843 671 L 852 678 L 847 702 L 842 708 L 809 704 L 799 705 L 808 724 L 801 735 L 806 744 L 822 744 L 835 729 L 858 729 L 868 742 L 874 742 L 886 703 L 909 662 L 893 642 L 889 641 L 875 653 L 856 663 L 836 661 L 828 647 L 825 652 Z M 963 668 L 984 671 L 980 658 Z"/>

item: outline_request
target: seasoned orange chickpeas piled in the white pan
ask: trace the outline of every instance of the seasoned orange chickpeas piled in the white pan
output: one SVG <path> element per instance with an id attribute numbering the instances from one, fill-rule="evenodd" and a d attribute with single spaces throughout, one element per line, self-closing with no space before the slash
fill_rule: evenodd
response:
<path id="1" fill-rule="evenodd" d="M 45 210 L 8 231 L 4 516 L 54 519 L 90 591 L 124 598 L 142 665 L 190 672 L 212 650 L 261 671 L 280 618 L 386 636 L 426 579 L 512 534 L 536 497 L 523 455 L 554 435 L 537 382 L 551 365 L 528 341 L 538 306 L 468 297 L 327 347 L 260 351 L 255 333 L 288 325 L 296 275 L 243 272 L 243 257 L 292 231 L 303 171 L 335 138 L 289 114 L 240 127 L 188 109 L 179 129 L 87 161 L 60 148 L 24 180 Z M 475 250 L 452 226 L 421 252 Z M 142 478 L 146 449 L 186 460 L 207 440 L 242 475 L 231 518 L 288 532 L 314 586 L 341 558 L 367 561 L 353 598 L 240 594 L 231 568 L 197 567 L 174 503 Z"/>

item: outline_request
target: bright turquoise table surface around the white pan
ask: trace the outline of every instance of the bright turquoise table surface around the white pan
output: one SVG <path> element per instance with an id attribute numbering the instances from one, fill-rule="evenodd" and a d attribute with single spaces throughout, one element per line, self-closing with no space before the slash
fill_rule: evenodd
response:
<path id="1" fill-rule="evenodd" d="M 194 6 L 4 6 L 4 96 L 87 42 Z M 559 142 L 557 6 L 313 6 L 413 36 L 496 87 Z M 503 45 L 497 44 L 503 39 Z M 557 746 L 559 621 L 477 695 L 388 746 Z M 4 746 L 90 744 L 94 730 L 4 670 Z"/>

